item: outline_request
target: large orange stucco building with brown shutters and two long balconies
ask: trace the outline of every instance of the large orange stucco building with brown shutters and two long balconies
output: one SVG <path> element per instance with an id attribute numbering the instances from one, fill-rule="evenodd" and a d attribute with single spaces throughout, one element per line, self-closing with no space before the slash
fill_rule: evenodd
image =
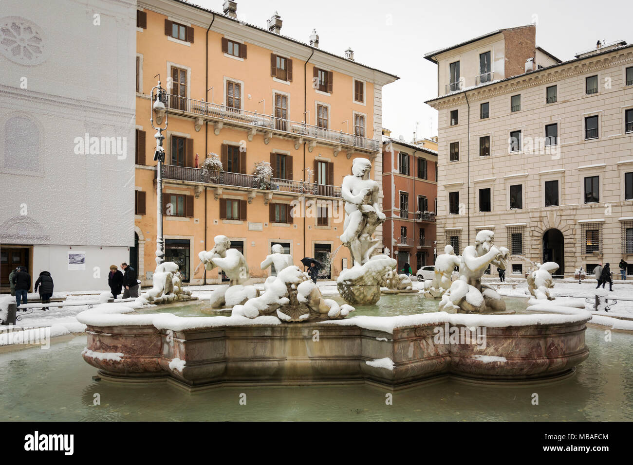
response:
<path id="1" fill-rule="evenodd" d="M 149 122 L 151 89 L 160 74 L 168 88 L 163 166 L 163 228 L 168 261 L 185 282 L 218 283 L 197 267 L 199 251 L 227 235 L 256 280 L 272 273 L 260 263 L 282 244 L 294 263 L 327 261 L 340 245 L 341 182 L 356 157 L 382 173 L 382 86 L 396 76 L 280 34 L 178 0 L 139 1 L 137 17 L 137 153 L 135 240 L 130 261 L 141 280 L 156 264 L 156 162 Z M 223 171 L 205 171 L 216 154 Z M 272 180 L 253 173 L 271 164 Z M 323 270 L 335 278 L 349 263 L 341 248 Z M 351 264 L 350 264 L 351 266 Z"/>

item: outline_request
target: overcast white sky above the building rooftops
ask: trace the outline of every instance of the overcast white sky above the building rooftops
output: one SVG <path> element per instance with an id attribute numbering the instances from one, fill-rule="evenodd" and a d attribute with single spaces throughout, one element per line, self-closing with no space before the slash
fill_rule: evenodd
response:
<path id="1" fill-rule="evenodd" d="M 223 0 L 192 0 L 222 13 Z M 424 103 L 437 96 L 437 65 L 427 52 L 536 19 L 536 43 L 565 61 L 596 41 L 633 42 L 633 3 L 503 0 L 237 0 L 237 17 L 266 27 L 275 9 L 282 34 L 308 42 L 313 28 L 319 48 L 398 75 L 383 89 L 383 127 L 411 140 L 437 134 L 437 112 Z M 391 18 L 391 22 L 389 22 Z"/>

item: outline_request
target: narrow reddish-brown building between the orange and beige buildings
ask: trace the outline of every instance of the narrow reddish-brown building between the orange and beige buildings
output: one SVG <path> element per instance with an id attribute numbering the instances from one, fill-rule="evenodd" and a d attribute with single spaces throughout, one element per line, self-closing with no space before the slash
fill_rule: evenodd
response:
<path id="1" fill-rule="evenodd" d="M 398 260 L 398 271 L 435 263 L 437 211 L 437 137 L 405 142 L 382 140 L 383 245 Z"/>

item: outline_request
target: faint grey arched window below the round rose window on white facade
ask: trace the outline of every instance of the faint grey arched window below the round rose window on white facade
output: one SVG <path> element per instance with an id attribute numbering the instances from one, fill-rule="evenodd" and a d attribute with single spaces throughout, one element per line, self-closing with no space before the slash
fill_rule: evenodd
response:
<path id="1" fill-rule="evenodd" d="M 13 116 L 4 124 L 4 168 L 40 171 L 39 128 L 26 116 Z"/>

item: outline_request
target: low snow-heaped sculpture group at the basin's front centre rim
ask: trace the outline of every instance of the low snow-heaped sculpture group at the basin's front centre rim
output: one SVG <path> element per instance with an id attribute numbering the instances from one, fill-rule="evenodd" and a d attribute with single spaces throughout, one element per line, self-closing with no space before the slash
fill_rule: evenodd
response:
<path id="1" fill-rule="evenodd" d="M 332 299 L 323 299 L 318 286 L 308 273 L 290 265 L 277 273 L 273 282 L 259 297 L 233 307 L 232 315 L 257 318 L 273 315 L 282 321 L 320 321 L 342 319 L 354 311 L 348 304 L 339 306 Z"/>

